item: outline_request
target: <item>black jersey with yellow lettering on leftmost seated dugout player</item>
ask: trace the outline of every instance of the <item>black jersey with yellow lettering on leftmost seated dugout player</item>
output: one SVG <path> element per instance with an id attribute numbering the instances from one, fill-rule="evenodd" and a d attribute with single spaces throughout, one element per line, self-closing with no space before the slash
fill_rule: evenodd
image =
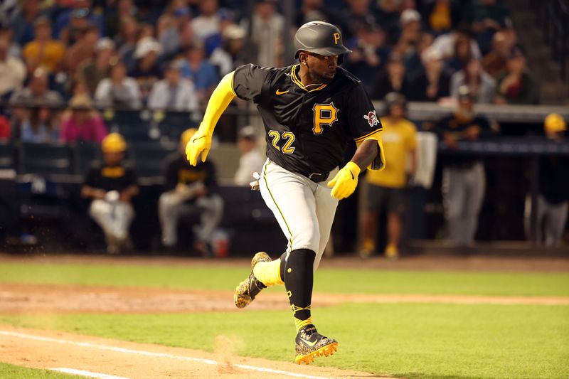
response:
<path id="1" fill-rule="evenodd" d="M 137 184 L 137 174 L 126 166 L 93 166 L 85 176 L 85 186 L 105 191 L 122 191 Z"/>

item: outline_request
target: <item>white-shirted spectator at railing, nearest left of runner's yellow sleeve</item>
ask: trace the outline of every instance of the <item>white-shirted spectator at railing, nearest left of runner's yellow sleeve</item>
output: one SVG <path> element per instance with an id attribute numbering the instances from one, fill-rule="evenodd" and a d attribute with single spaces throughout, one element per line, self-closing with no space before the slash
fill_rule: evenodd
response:
<path id="1" fill-rule="evenodd" d="M 164 79 L 155 82 L 148 97 L 151 110 L 193 112 L 198 108 L 198 95 L 193 82 L 180 78 L 178 62 L 168 65 Z"/>

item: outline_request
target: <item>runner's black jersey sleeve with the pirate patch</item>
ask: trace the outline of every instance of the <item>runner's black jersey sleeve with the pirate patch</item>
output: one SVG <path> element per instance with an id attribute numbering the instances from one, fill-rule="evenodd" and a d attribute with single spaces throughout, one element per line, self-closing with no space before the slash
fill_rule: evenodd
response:
<path id="1" fill-rule="evenodd" d="M 361 142 L 372 134 L 380 132 L 381 122 L 361 82 L 353 87 L 348 98 L 347 114 L 351 137 L 356 142 Z"/>

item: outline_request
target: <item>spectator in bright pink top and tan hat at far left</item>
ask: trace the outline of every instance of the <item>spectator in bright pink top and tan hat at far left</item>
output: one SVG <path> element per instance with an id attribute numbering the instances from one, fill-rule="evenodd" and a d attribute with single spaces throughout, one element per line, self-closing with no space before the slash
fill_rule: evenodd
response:
<path id="1" fill-rule="evenodd" d="M 105 122 L 93 110 L 90 98 L 85 95 L 73 97 L 62 118 L 60 138 L 63 142 L 100 143 L 108 134 Z"/>

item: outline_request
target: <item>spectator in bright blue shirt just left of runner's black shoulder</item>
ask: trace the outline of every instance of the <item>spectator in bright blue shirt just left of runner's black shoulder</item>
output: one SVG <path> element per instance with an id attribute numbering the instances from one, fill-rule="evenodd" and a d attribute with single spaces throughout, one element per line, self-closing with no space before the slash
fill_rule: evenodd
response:
<path id="1" fill-rule="evenodd" d="M 200 102 L 204 102 L 219 82 L 216 68 L 205 60 L 201 43 L 193 43 L 186 51 L 186 60 L 181 63 L 180 73 L 196 85 Z"/>

